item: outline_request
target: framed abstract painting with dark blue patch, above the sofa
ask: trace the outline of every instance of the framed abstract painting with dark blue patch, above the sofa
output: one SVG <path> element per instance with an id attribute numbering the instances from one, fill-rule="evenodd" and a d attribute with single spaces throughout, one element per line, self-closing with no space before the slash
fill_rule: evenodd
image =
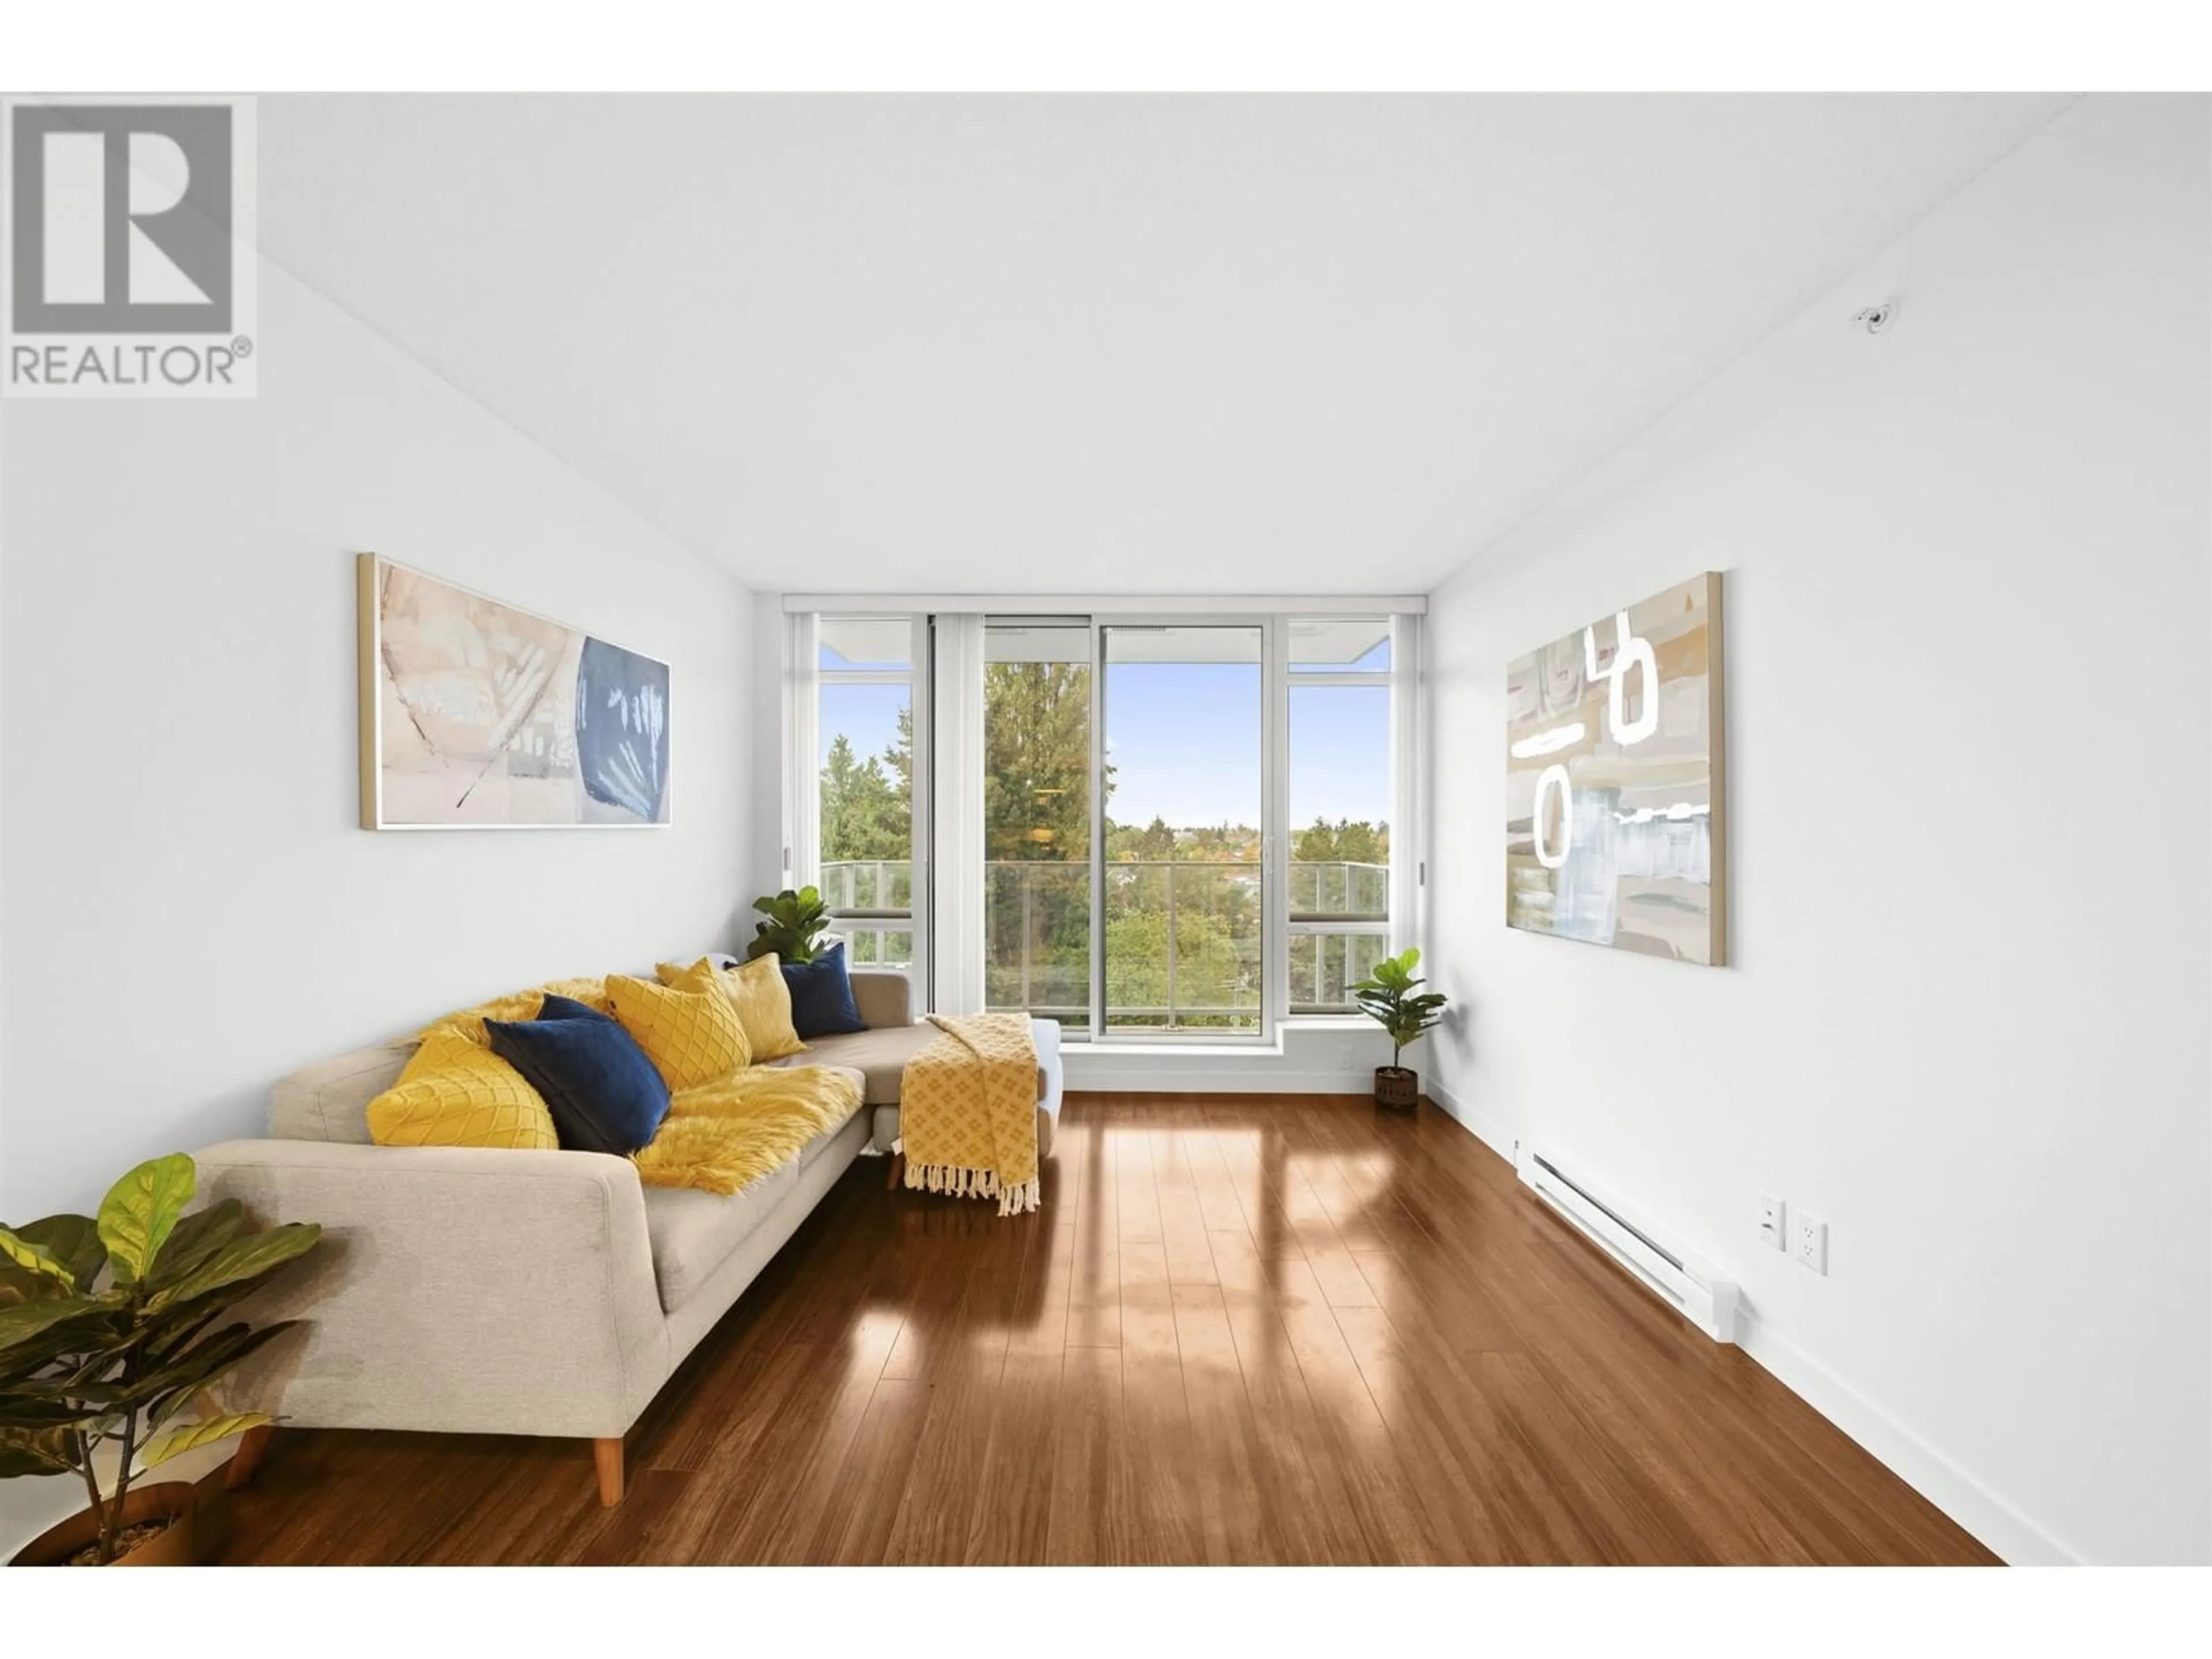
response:
<path id="1" fill-rule="evenodd" d="M 668 823 L 668 664 L 374 553 L 358 577 L 365 830 Z"/>

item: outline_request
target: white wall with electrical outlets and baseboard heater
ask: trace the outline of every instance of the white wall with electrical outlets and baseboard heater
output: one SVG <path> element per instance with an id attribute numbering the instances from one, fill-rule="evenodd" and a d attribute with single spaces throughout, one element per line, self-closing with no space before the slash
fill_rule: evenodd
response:
<path id="1" fill-rule="evenodd" d="M 1455 1108 L 1739 1276 L 2011 1559 L 2212 1557 L 2208 146 L 2201 97 L 2079 104 L 1431 611 Z M 1732 967 L 1509 931 L 1506 657 L 1703 568 Z"/>

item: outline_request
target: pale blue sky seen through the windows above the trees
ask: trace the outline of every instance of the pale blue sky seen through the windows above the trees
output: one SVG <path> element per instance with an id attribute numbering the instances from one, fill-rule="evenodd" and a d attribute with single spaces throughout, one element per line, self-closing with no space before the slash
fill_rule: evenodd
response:
<path id="1" fill-rule="evenodd" d="M 823 686 L 823 757 L 841 730 L 860 754 L 883 754 L 898 739 L 905 703 L 905 686 Z M 1259 717 L 1254 664 L 1113 664 L 1106 739 L 1115 823 L 1256 825 Z M 1290 827 L 1316 816 L 1389 821 L 1387 686 L 1292 688 Z"/>

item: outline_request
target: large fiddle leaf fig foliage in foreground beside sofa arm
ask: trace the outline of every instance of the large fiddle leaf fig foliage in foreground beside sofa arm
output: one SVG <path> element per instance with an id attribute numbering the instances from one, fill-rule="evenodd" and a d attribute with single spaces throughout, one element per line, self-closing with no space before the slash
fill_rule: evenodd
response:
<path id="1" fill-rule="evenodd" d="M 274 1418 L 237 1411 L 175 1427 L 210 1383 L 296 1321 L 221 1323 L 254 1283 L 307 1254 L 321 1228 L 254 1228 L 237 1199 L 184 1214 L 199 1170 L 148 1159 L 97 1217 L 0 1228 L 0 1478 L 75 1473 L 117 1555 L 124 1498 L 146 1469 Z M 102 1493 L 95 1453 L 117 1449 Z"/>

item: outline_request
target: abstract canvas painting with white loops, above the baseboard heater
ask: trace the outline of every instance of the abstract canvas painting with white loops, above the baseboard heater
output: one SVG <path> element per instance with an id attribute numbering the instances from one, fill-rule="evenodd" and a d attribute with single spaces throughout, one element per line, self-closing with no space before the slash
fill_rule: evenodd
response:
<path id="1" fill-rule="evenodd" d="M 1728 960 L 1721 577 L 1506 664 L 1506 925 Z"/>

